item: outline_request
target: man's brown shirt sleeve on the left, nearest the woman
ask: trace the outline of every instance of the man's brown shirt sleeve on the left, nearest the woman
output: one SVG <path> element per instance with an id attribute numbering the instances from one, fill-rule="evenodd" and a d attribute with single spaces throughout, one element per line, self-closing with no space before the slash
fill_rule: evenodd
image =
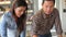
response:
<path id="1" fill-rule="evenodd" d="M 37 20 L 37 16 L 33 16 L 32 18 L 32 25 L 31 25 L 31 32 L 32 32 L 32 35 L 37 35 L 37 29 L 38 29 L 38 20 Z"/>

